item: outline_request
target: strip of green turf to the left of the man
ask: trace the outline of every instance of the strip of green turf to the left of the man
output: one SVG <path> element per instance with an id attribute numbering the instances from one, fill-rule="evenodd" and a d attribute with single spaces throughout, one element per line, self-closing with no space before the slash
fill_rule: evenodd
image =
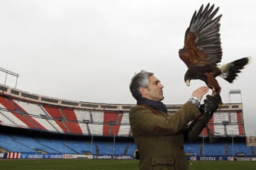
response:
<path id="1" fill-rule="evenodd" d="M 138 169 L 134 160 L 1 160 L 0 169 Z"/>

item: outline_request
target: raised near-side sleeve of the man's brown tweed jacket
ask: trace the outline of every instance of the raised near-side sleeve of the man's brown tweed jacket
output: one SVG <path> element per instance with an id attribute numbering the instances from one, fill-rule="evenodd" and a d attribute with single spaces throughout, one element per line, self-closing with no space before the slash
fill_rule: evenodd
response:
<path id="1" fill-rule="evenodd" d="M 138 105 L 130 110 L 132 132 L 142 136 L 163 136 L 180 132 L 190 119 L 201 113 L 191 102 L 185 103 L 176 113 L 169 116 L 155 115 L 149 108 Z"/>

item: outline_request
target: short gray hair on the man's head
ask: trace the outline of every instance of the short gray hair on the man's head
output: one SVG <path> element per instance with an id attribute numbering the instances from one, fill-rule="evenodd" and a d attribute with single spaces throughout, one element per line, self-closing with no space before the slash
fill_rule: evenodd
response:
<path id="1" fill-rule="evenodd" d="M 140 73 L 135 73 L 134 77 L 130 81 L 129 87 L 132 96 L 136 100 L 139 100 L 140 97 L 142 97 L 142 94 L 140 93 L 140 87 L 147 88 L 149 86 L 148 78 L 153 75 L 154 73 L 150 73 L 145 70 L 140 71 Z"/>

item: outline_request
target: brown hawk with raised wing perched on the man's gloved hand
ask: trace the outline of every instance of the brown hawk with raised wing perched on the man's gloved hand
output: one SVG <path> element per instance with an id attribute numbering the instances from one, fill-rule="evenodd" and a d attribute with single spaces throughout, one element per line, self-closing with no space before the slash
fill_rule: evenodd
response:
<path id="1" fill-rule="evenodd" d="M 222 49 L 220 40 L 220 18 L 215 17 L 219 10 L 215 10 L 214 4 L 210 7 L 203 5 L 195 11 L 189 28 L 187 28 L 184 47 L 179 50 L 179 57 L 187 65 L 187 72 L 184 81 L 189 86 L 191 79 L 201 79 L 213 92 L 220 92 L 221 87 L 215 79 L 217 76 L 233 83 L 237 73 L 241 72 L 250 57 L 235 60 L 225 65 L 217 65 L 222 59 Z M 214 18 L 215 17 L 215 18 Z"/>

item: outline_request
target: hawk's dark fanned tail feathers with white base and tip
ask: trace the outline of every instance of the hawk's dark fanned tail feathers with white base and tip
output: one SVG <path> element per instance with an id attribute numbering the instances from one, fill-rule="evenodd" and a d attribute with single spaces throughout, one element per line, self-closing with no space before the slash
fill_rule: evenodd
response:
<path id="1" fill-rule="evenodd" d="M 219 75 L 221 78 L 225 79 L 229 83 L 233 83 L 234 79 L 238 76 L 245 65 L 251 62 L 251 57 L 244 57 L 242 59 L 235 60 L 233 62 L 227 63 L 225 65 L 220 65 L 218 68 L 221 71 Z"/>

